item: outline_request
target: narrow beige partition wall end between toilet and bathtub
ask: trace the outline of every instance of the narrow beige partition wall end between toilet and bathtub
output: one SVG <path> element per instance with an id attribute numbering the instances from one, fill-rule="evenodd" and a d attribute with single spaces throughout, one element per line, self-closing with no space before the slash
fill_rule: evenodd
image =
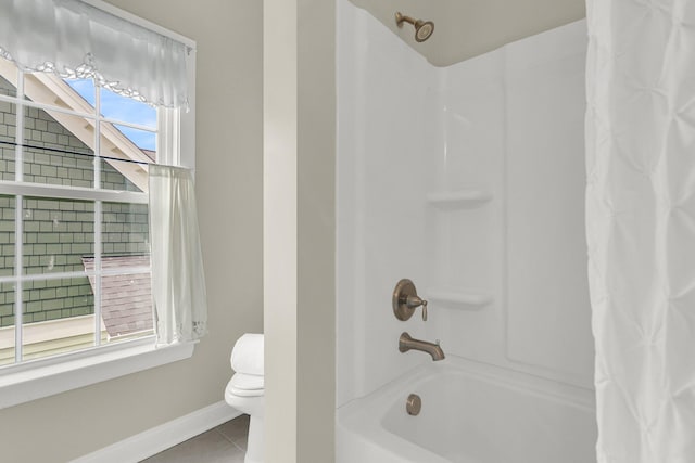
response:
<path id="1" fill-rule="evenodd" d="M 267 462 L 334 459 L 334 9 L 264 2 Z"/>

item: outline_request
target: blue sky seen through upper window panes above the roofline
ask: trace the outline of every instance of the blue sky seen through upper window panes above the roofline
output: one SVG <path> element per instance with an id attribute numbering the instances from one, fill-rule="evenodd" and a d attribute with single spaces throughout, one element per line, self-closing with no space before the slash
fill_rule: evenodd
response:
<path id="1" fill-rule="evenodd" d="M 91 79 L 66 79 L 77 93 L 79 93 L 92 106 L 96 104 L 94 82 Z M 156 129 L 156 110 L 139 101 L 121 97 L 110 90 L 101 90 L 101 114 L 104 117 L 138 124 Z M 130 127 L 115 125 L 126 137 L 142 150 L 155 149 L 156 136 L 154 132 L 138 130 Z"/>

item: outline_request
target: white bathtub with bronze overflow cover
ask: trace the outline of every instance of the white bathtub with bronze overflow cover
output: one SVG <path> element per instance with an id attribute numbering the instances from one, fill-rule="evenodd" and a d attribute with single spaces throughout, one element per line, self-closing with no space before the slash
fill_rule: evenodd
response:
<path id="1" fill-rule="evenodd" d="M 463 359 L 426 363 L 337 416 L 338 463 L 596 461 L 593 391 Z"/>

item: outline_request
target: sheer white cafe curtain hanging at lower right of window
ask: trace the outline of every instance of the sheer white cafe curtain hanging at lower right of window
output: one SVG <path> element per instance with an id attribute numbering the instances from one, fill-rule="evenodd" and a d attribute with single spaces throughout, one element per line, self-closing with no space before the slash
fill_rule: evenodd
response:
<path id="1" fill-rule="evenodd" d="M 157 344 L 198 339 L 207 332 L 207 299 L 191 171 L 159 165 L 149 170 Z"/>

